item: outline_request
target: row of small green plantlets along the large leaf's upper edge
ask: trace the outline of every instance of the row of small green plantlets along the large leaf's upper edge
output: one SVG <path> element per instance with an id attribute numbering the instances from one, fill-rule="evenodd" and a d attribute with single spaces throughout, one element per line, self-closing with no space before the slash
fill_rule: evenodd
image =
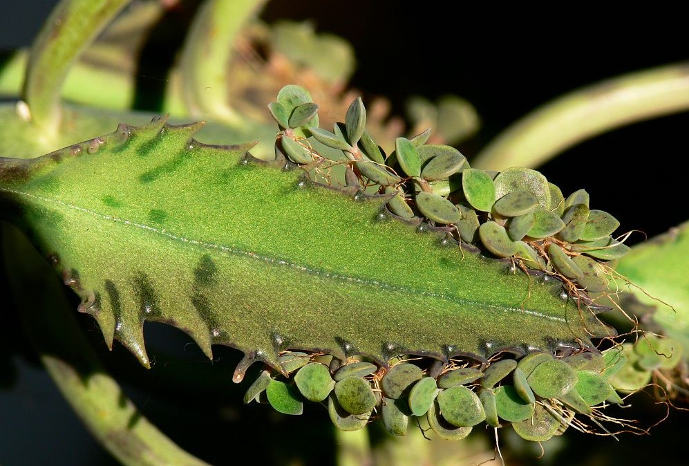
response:
<path id="1" fill-rule="evenodd" d="M 300 86 L 285 86 L 269 109 L 280 127 L 277 160 L 306 170 L 342 163 L 315 151 L 307 140 L 312 136 L 345 154 L 348 188 L 388 196 L 389 214 L 416 225 L 425 222 L 460 244 L 511 258 L 522 269 L 554 274 L 572 296 L 579 290 L 607 290 L 614 261 L 629 250 L 611 236 L 619 221 L 590 209 L 584 189 L 565 198 L 536 170 L 473 169 L 457 149 L 426 144 L 430 129 L 411 139 L 397 138 L 395 151 L 386 156 L 366 131 L 361 97 L 332 133 L 318 127 L 318 106 Z"/>

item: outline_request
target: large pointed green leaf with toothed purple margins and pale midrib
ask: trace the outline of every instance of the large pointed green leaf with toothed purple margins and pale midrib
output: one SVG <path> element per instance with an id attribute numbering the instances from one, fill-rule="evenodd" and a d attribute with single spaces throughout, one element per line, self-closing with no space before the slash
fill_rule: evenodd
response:
<path id="1" fill-rule="evenodd" d="M 234 346 L 279 368 L 313 348 L 385 363 L 502 348 L 554 351 L 607 334 L 560 282 L 462 253 L 249 156 L 202 145 L 200 124 L 154 120 L 31 160 L 0 163 L 0 212 L 82 297 L 79 310 L 142 362 L 144 321 L 185 330 L 211 355 Z"/>

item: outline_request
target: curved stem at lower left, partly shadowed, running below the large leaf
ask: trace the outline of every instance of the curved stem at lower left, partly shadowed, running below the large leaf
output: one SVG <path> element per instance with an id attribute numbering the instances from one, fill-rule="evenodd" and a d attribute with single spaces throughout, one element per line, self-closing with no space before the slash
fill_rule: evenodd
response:
<path id="1" fill-rule="evenodd" d="M 8 277 L 26 331 L 50 377 L 98 442 L 128 466 L 208 466 L 144 418 L 93 355 L 48 265 L 21 234 L 9 228 L 3 234 L 3 252 L 12 263 Z M 22 299 L 26 296 L 30 301 Z"/>

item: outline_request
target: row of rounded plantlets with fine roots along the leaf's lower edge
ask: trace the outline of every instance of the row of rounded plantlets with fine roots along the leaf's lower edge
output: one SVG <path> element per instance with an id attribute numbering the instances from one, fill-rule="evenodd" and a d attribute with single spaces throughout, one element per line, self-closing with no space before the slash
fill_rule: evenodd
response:
<path id="1" fill-rule="evenodd" d="M 663 349 L 677 348 L 670 340 L 662 341 Z M 639 360 L 672 367 L 681 359 L 675 351 L 660 362 L 663 355 L 648 342 L 639 339 L 635 350 L 632 345 L 615 346 L 601 355 L 536 352 L 484 363 L 395 358 L 389 369 L 353 358 L 339 365 L 321 353 L 287 351 L 281 355 L 283 372 L 262 371 L 244 402 L 267 403 L 292 415 L 302 413 L 305 401 L 319 402 L 327 405 L 333 424 L 345 431 L 381 419 L 390 434 L 404 436 L 410 420 L 417 418 L 419 427 L 427 423 L 440 438 L 460 440 L 482 422 L 495 428 L 511 423 L 522 438 L 542 442 L 570 426 L 587 429 L 575 420 L 577 414 L 598 425 L 597 419 L 624 425 L 601 410 L 623 403 L 616 390 L 635 391 L 648 383 L 636 375 Z"/>

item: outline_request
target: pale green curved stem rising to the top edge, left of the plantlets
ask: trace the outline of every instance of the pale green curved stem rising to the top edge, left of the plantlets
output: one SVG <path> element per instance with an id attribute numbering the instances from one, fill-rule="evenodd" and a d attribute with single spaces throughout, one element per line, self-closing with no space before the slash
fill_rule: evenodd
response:
<path id="1" fill-rule="evenodd" d="M 227 64 L 247 20 L 266 0 L 207 0 L 200 6 L 182 50 L 182 95 L 189 115 L 214 117 L 240 127 L 230 106 Z"/>

